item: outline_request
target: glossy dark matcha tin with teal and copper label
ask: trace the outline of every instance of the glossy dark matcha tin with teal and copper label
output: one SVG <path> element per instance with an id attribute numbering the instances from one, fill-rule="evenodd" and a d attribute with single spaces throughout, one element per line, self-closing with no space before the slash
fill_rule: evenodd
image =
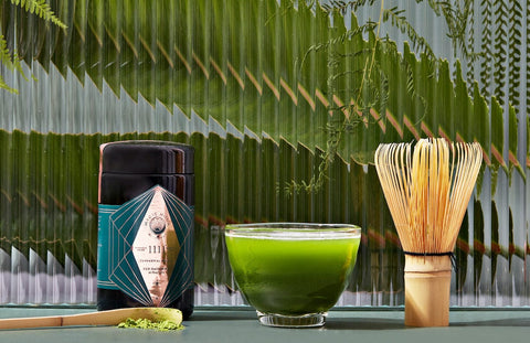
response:
<path id="1" fill-rule="evenodd" d="M 193 312 L 193 148 L 165 141 L 100 146 L 97 309 Z"/>

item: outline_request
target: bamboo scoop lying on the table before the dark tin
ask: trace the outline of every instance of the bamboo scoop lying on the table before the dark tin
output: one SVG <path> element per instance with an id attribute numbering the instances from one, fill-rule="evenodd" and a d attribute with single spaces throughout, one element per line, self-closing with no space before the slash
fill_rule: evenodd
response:
<path id="1" fill-rule="evenodd" d="M 73 325 L 117 325 L 128 318 L 182 322 L 182 312 L 171 308 L 127 308 L 71 315 L 0 319 L 0 329 L 30 329 Z"/>

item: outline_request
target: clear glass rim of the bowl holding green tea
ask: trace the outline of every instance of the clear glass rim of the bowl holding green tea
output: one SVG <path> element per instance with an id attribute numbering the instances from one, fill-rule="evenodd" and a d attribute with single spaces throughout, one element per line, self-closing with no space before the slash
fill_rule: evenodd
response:
<path id="1" fill-rule="evenodd" d="M 225 235 L 230 237 L 243 236 L 277 239 L 341 239 L 360 237 L 361 227 L 353 224 L 339 223 L 245 223 L 226 224 Z"/>

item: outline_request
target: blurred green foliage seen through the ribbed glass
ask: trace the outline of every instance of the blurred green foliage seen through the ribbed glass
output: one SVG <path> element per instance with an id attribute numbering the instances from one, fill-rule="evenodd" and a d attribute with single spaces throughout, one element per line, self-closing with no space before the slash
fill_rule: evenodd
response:
<path id="1" fill-rule="evenodd" d="M 480 142 L 486 162 L 473 217 L 466 217 L 457 245 L 456 289 L 471 283 L 478 293 L 485 258 L 494 279 L 497 256 L 509 267 L 513 256 L 526 261 L 527 240 L 520 239 L 524 228 L 513 228 L 511 219 L 508 226 L 499 223 L 496 195 L 499 172 L 510 180 L 513 174 L 526 179 L 522 157 L 528 142 L 519 142 L 528 124 L 520 119 L 526 117 L 517 92 L 527 46 L 518 39 L 524 26 L 522 7 L 480 3 L 491 12 L 485 12 L 481 26 L 486 57 L 476 60 L 481 65 L 475 69 L 475 57 L 470 63 L 463 60 L 462 67 L 460 62 L 433 60 L 417 40 L 411 42 L 416 52 L 409 44 L 399 49 L 393 41 L 377 40 L 370 23 L 358 24 L 353 15 L 347 28 L 343 12 L 329 13 L 304 1 L 296 7 L 275 0 L 50 2 L 66 30 L 0 2 L 7 46 L 15 46 L 28 65 L 57 68 L 83 85 L 89 79 L 100 92 L 108 86 L 113 96 L 125 90 L 135 100 L 141 97 L 153 106 L 158 101 L 170 111 L 177 106 L 189 117 L 198 115 L 246 133 L 151 132 L 141 125 L 144 114 L 138 114 L 136 132 L 107 133 L 107 122 L 96 115 L 104 133 L 1 130 L 0 225 L 8 254 L 17 247 L 46 259 L 51 251 L 62 262 L 67 255 L 78 268 L 83 260 L 94 268 L 98 144 L 120 139 L 183 141 L 197 149 L 198 283 L 234 288 L 219 231 L 225 223 L 348 222 L 363 228 L 350 290 L 383 292 L 383 303 L 391 297 L 400 303 L 403 257 L 370 162 L 380 142 L 444 136 Z M 431 6 L 441 13 L 445 9 Z M 403 29 L 402 14 L 390 8 L 384 20 Z M 466 30 L 475 28 L 473 15 L 466 17 Z M 449 22 L 448 26 L 453 28 Z M 506 37 L 509 41 L 502 41 Z M 358 118 L 349 105 L 358 99 L 356 90 L 363 89 L 360 75 L 372 52 L 377 73 L 358 100 L 370 105 L 369 111 Z M 105 97 L 100 100 L 104 106 Z M 92 116 L 93 105 L 70 114 L 78 130 L 85 122 L 81 116 Z M 119 120 L 116 116 L 120 114 L 107 120 Z M 287 196 L 283 185 L 318 173 L 333 129 L 346 117 L 352 125 L 331 154 L 322 190 Z M 491 185 L 487 195 L 479 194 L 484 178 Z M 506 213 L 511 218 L 510 202 L 500 205 L 500 218 Z M 486 216 L 483 208 L 488 210 Z M 468 256 L 474 257 L 473 266 L 467 266 Z"/>

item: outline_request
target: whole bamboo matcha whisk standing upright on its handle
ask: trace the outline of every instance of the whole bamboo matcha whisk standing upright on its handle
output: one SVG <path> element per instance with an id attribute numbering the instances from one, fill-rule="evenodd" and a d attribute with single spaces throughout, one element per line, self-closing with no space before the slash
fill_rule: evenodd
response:
<path id="1" fill-rule="evenodd" d="M 380 144 L 375 168 L 405 253 L 405 324 L 448 325 L 451 256 L 481 164 L 478 143 Z"/>

